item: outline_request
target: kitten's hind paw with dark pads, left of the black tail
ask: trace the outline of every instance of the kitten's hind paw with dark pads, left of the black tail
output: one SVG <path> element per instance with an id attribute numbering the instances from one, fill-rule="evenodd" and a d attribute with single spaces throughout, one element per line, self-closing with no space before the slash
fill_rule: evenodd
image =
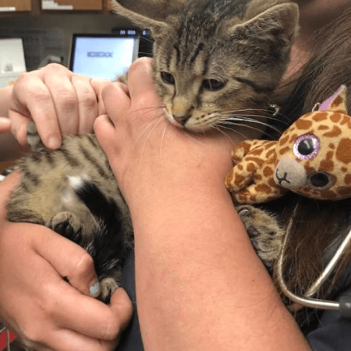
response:
<path id="1" fill-rule="evenodd" d="M 84 226 L 77 216 L 71 212 L 57 213 L 51 218 L 48 227 L 77 244 L 80 244 L 83 238 Z"/>

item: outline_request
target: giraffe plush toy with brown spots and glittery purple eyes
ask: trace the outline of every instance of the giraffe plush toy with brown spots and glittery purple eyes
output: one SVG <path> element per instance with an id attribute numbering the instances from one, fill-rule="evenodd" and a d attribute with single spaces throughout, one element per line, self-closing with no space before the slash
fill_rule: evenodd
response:
<path id="1" fill-rule="evenodd" d="M 240 143 L 232 160 L 225 185 L 241 204 L 270 201 L 289 190 L 312 199 L 351 197 L 346 87 L 341 86 L 318 111 L 300 117 L 279 140 Z"/>

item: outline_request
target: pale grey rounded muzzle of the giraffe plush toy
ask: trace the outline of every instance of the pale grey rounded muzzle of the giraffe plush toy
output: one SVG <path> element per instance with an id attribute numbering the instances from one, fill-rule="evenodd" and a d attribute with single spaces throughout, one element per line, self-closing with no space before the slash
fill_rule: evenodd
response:
<path id="1" fill-rule="evenodd" d="M 295 159 L 286 157 L 279 161 L 274 170 L 274 182 L 281 187 L 295 190 L 303 187 L 307 181 L 307 174 L 302 164 Z"/>

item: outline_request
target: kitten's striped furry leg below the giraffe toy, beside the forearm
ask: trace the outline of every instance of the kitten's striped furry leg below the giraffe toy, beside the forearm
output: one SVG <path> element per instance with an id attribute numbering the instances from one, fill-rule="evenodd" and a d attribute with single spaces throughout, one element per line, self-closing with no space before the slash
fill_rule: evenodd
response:
<path id="1" fill-rule="evenodd" d="M 256 253 L 265 267 L 272 270 L 274 261 L 282 249 L 284 230 L 272 214 L 260 208 L 250 205 L 237 206 L 236 208 Z"/>

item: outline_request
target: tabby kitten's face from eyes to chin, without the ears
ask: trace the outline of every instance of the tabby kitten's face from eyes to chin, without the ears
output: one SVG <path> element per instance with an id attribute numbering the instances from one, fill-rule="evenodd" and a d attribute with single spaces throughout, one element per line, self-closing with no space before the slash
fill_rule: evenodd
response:
<path id="1" fill-rule="evenodd" d="M 168 121 L 191 131 L 204 131 L 218 125 L 232 126 L 230 117 L 243 115 L 248 108 L 267 107 L 276 77 L 268 70 L 245 67 L 239 58 L 233 62 L 232 57 L 221 44 L 199 43 L 187 55 L 176 48 L 159 49 L 154 55 L 154 76 Z"/>

